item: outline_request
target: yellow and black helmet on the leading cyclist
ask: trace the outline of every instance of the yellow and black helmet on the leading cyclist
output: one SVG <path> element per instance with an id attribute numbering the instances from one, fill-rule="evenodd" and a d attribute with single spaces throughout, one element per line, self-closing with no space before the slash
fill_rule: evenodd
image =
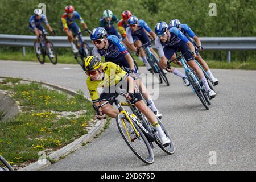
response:
<path id="1" fill-rule="evenodd" d="M 100 68 L 102 65 L 102 61 L 97 56 L 89 56 L 85 57 L 84 63 L 82 64 L 82 69 L 84 71 L 89 72 L 93 71 L 94 69 Z"/>

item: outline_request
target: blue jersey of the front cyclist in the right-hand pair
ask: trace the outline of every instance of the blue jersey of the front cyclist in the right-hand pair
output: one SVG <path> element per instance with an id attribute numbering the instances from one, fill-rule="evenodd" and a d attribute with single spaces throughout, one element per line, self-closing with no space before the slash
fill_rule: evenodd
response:
<path id="1" fill-rule="evenodd" d="M 165 43 L 161 42 L 163 46 L 175 46 L 181 41 L 183 41 L 184 43 L 188 43 L 188 38 L 176 27 L 169 25 L 168 30 L 170 31 L 171 38 L 170 40 L 167 40 Z"/>

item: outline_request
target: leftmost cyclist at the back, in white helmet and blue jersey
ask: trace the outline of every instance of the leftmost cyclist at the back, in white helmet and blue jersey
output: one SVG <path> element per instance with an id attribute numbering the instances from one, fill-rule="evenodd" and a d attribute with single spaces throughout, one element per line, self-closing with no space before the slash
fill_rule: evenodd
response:
<path id="1" fill-rule="evenodd" d="M 48 20 L 46 18 L 46 15 L 43 14 L 42 9 L 35 9 L 34 15 L 30 17 L 30 20 L 28 22 L 28 27 L 30 28 L 30 31 L 33 32 L 36 35 L 36 53 L 38 55 L 41 54 L 40 51 L 40 35 L 44 34 L 46 30 L 42 26 L 42 22 L 46 24 L 47 29 L 52 33 L 53 36 L 55 36 L 55 31 L 52 29 L 52 27 L 49 25 Z M 53 52 L 51 50 L 51 46 L 49 43 L 47 43 L 47 47 L 49 48 L 49 56 L 51 58 L 54 57 Z"/>

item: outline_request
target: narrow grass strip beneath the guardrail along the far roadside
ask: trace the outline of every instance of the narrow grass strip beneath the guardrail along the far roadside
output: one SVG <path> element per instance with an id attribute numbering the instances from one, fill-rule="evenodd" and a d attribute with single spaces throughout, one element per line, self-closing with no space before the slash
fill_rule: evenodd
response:
<path id="1" fill-rule="evenodd" d="M 137 64 L 139 66 L 143 66 L 142 61 L 135 56 L 134 53 L 133 57 L 137 60 Z M 0 60 L 17 60 L 17 61 L 33 61 L 38 62 L 33 52 L 27 52 L 26 56 L 22 56 L 22 51 L 20 52 L 1 52 Z M 48 58 L 46 59 L 47 63 L 50 63 Z M 76 60 L 74 59 L 72 53 L 66 52 L 65 55 L 58 55 L 58 63 L 65 63 L 65 64 L 77 64 Z M 256 61 L 232 61 L 228 63 L 226 61 L 214 61 L 214 60 L 207 60 L 207 64 L 211 69 L 247 69 L 247 70 L 256 70 Z M 176 64 L 172 64 L 174 67 L 179 67 Z"/>

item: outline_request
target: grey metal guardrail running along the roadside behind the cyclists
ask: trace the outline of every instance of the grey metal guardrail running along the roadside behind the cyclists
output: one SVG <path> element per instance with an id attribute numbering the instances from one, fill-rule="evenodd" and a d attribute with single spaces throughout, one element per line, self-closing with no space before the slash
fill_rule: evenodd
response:
<path id="1" fill-rule="evenodd" d="M 68 43 L 67 36 L 48 36 L 55 47 L 71 47 Z M 33 46 L 36 36 L 31 35 L 7 35 L 0 34 L 0 45 L 23 46 L 23 55 L 26 55 L 25 46 Z M 88 36 L 83 37 L 90 47 L 93 47 L 92 41 Z M 256 37 L 218 37 L 207 38 L 201 37 L 201 43 L 205 50 L 228 51 L 227 60 L 231 61 L 231 52 L 238 50 L 256 50 Z"/>

